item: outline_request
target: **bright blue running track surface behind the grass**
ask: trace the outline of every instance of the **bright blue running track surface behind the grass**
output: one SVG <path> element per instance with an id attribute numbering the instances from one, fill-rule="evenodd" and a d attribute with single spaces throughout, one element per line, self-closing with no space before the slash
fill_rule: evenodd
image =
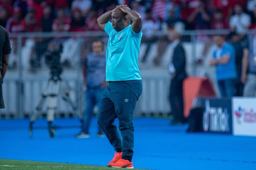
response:
<path id="1" fill-rule="evenodd" d="M 117 123 L 117 122 L 116 122 Z M 134 118 L 133 166 L 157 170 L 256 170 L 256 137 L 217 133 L 186 133 L 186 125 L 170 126 L 168 119 Z M 77 139 L 80 122 L 55 119 L 50 138 L 46 119 L 0 120 L 0 159 L 31 160 L 106 166 L 114 150 L 107 138 Z M 255 129 L 256 130 L 256 129 Z"/>

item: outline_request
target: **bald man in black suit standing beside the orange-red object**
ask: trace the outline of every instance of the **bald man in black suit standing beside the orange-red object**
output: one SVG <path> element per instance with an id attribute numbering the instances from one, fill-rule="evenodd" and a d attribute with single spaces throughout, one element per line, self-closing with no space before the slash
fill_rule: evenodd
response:
<path id="1" fill-rule="evenodd" d="M 177 31 L 172 31 L 169 39 L 172 41 L 173 46 L 172 59 L 168 68 L 171 74 L 169 100 L 171 112 L 174 116 L 171 124 L 177 125 L 186 122 L 183 117 L 183 80 L 187 77 L 185 71 L 186 57 L 180 42 L 180 34 Z"/>

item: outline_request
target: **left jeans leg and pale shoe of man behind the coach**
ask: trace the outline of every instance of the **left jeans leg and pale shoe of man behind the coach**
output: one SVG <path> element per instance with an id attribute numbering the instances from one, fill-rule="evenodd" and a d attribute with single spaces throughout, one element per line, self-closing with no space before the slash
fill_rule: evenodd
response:
<path id="1" fill-rule="evenodd" d="M 77 135 L 77 138 L 89 138 L 89 126 L 91 118 L 93 115 L 93 107 L 95 104 L 94 101 L 94 89 L 87 89 L 85 94 L 85 112 L 84 112 L 84 121 L 81 129 L 81 133 Z"/>

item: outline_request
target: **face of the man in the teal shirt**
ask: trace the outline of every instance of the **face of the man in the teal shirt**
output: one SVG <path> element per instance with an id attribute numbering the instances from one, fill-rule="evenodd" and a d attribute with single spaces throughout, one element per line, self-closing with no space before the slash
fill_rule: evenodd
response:
<path id="1" fill-rule="evenodd" d="M 121 9 L 114 9 L 111 14 L 111 24 L 114 30 L 120 31 L 125 27 L 124 13 Z"/>

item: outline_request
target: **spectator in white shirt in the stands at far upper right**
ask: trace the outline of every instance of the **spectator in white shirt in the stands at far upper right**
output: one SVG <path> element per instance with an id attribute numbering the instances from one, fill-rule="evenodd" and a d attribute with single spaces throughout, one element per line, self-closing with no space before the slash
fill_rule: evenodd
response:
<path id="1" fill-rule="evenodd" d="M 243 12 L 240 4 L 234 6 L 234 15 L 231 16 L 229 26 L 231 31 L 236 31 L 239 34 L 244 34 L 251 25 L 251 18 Z"/>

